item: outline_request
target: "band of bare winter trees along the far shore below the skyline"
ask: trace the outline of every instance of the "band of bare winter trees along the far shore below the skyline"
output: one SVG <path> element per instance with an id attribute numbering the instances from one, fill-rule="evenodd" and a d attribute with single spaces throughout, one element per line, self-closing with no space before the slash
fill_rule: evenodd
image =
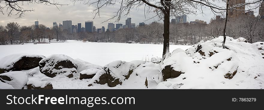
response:
<path id="1" fill-rule="evenodd" d="M 192 45 L 199 41 L 207 41 L 222 35 L 224 19 L 211 18 L 210 24 L 170 24 L 170 44 Z M 229 20 L 226 25 L 226 36 L 232 38 L 243 37 L 249 43 L 264 41 L 264 20 L 256 17 L 241 16 L 235 20 Z M 38 26 L 20 26 L 16 22 L 10 22 L 6 26 L 0 26 L 0 43 L 21 44 L 29 42 L 45 43 L 44 39 L 65 41 L 82 40 L 84 42 L 118 42 L 126 43 L 134 41 L 141 44 L 163 44 L 163 24 L 153 22 L 145 26 L 137 26 L 135 29 L 119 29 L 113 32 L 79 32 L 70 34 L 67 30 L 61 30 L 57 26 L 47 28 L 44 24 Z"/>

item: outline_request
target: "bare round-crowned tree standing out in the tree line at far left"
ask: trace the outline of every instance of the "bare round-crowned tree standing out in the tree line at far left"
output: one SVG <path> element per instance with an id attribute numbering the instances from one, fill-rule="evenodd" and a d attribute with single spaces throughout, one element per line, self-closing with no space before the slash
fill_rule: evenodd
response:
<path id="1" fill-rule="evenodd" d="M 13 44 L 13 39 L 16 37 L 16 35 L 19 33 L 19 25 L 17 22 L 10 22 L 5 26 L 7 32 L 8 32 L 8 37 L 10 38 L 11 44 Z"/>

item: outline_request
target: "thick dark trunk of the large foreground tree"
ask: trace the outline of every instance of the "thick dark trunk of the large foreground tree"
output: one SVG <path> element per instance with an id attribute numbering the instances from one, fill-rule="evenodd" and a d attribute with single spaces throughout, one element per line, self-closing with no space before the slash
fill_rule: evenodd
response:
<path id="1" fill-rule="evenodd" d="M 170 47 L 170 9 L 164 9 L 164 32 L 163 32 L 163 54 L 162 59 L 164 60 L 169 55 Z"/>

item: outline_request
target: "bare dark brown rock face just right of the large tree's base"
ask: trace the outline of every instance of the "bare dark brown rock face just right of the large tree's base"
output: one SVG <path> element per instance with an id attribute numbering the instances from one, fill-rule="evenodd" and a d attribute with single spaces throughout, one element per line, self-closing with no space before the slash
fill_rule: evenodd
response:
<path id="1" fill-rule="evenodd" d="M 169 78 L 177 78 L 181 74 L 184 74 L 184 72 L 178 72 L 178 71 L 173 70 L 173 67 L 171 67 L 171 65 L 165 66 L 165 68 L 162 69 L 161 72 L 162 72 L 164 81 Z"/>

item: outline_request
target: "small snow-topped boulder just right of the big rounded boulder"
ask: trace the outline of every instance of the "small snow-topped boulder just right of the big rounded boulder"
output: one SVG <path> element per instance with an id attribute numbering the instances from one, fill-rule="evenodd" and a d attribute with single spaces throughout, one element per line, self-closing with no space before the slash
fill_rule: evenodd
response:
<path id="1" fill-rule="evenodd" d="M 80 72 L 80 80 L 82 79 L 91 79 L 95 76 L 96 72 L 98 72 L 100 69 L 85 69 Z"/>

